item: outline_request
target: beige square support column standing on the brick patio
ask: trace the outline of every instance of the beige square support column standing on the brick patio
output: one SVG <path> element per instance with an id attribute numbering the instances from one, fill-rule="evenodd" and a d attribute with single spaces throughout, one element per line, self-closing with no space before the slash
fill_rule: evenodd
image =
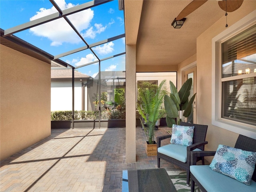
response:
<path id="1" fill-rule="evenodd" d="M 126 163 L 136 162 L 136 45 L 126 45 Z"/>

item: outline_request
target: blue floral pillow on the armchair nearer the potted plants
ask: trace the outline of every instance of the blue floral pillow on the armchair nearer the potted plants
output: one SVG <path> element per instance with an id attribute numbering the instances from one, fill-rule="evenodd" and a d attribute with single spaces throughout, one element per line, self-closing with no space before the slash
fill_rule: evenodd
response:
<path id="1" fill-rule="evenodd" d="M 193 143 L 194 126 L 172 125 L 171 144 L 190 146 Z"/>

